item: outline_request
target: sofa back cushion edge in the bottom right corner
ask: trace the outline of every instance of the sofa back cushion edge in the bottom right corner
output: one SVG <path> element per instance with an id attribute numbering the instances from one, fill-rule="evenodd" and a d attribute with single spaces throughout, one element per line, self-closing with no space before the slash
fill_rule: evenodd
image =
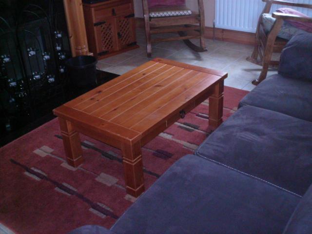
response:
<path id="1" fill-rule="evenodd" d="M 312 233 L 312 185 L 292 213 L 283 234 Z"/>

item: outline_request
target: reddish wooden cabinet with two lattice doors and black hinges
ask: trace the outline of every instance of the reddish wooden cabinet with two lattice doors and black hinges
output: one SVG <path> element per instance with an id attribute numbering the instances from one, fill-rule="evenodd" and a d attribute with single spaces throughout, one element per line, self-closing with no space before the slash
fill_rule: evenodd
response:
<path id="1" fill-rule="evenodd" d="M 89 50 L 103 59 L 137 48 L 133 0 L 84 0 Z"/>

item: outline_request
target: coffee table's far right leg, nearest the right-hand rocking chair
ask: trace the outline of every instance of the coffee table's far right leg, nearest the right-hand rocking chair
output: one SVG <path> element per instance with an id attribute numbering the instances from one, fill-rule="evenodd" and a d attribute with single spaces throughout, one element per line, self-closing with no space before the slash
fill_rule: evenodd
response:
<path id="1" fill-rule="evenodd" d="M 209 97 L 209 127 L 215 130 L 222 123 L 224 81 L 215 85 L 214 94 Z"/>

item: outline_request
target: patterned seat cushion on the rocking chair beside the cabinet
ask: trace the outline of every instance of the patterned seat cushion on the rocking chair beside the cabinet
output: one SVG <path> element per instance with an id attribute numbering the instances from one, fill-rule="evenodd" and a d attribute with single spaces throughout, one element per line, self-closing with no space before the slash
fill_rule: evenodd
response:
<path id="1" fill-rule="evenodd" d="M 151 18 L 189 16 L 192 11 L 185 6 L 155 7 L 150 9 Z"/>

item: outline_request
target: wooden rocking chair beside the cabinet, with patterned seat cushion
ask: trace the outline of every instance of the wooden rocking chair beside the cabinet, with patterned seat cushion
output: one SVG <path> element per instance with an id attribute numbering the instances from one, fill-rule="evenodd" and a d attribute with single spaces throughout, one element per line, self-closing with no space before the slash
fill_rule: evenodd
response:
<path id="1" fill-rule="evenodd" d="M 173 4 L 178 3 L 176 5 Z M 205 15 L 203 0 L 198 0 L 198 13 L 191 12 L 185 6 L 185 0 L 142 0 L 147 42 L 147 56 L 152 55 L 152 43 L 171 40 L 183 40 L 196 52 L 206 50 L 204 31 Z M 161 3 L 167 3 L 165 6 Z M 156 7 L 155 7 L 156 6 Z M 197 35 L 187 35 L 188 31 L 196 31 Z M 177 32 L 179 37 L 152 39 L 151 34 Z M 198 34 L 199 32 L 199 34 Z M 200 39 L 200 47 L 190 41 Z"/>

